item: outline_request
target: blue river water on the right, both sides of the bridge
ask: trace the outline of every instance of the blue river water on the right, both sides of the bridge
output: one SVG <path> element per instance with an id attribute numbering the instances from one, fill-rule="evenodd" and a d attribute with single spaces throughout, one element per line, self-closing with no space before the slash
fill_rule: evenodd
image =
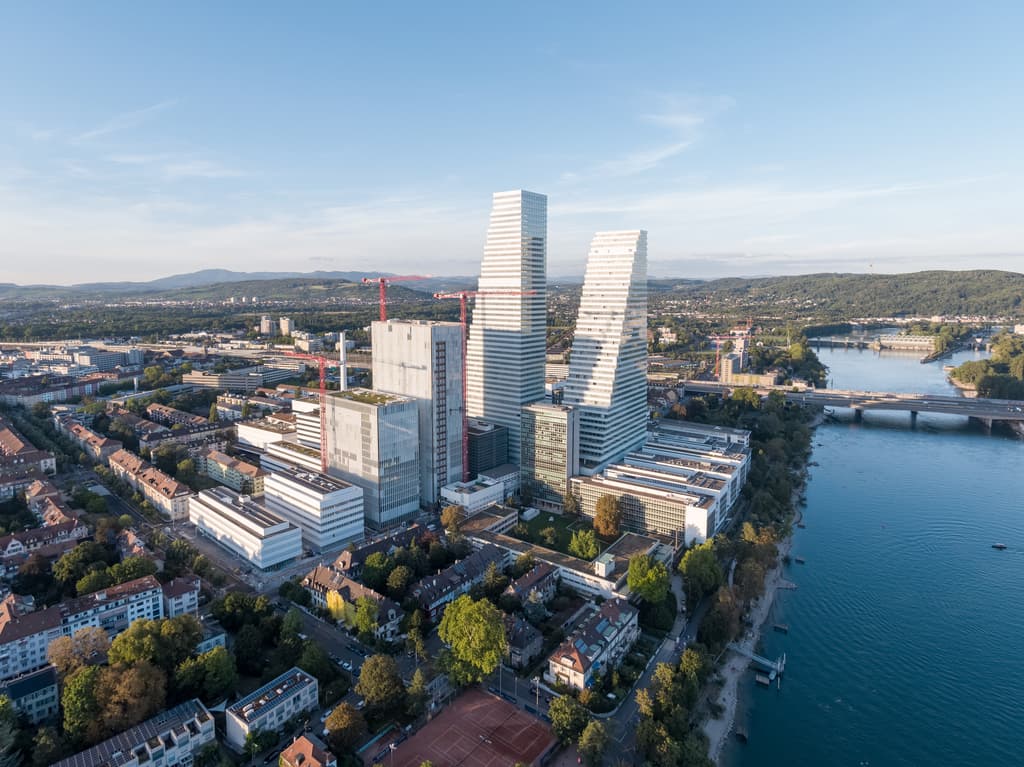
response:
<path id="1" fill-rule="evenodd" d="M 943 363 L 818 355 L 837 388 L 953 391 Z M 787 655 L 781 689 L 741 682 L 750 741 L 723 763 L 1024 764 L 1024 440 L 951 416 L 837 416 L 814 436 L 799 589 L 769 620 L 790 633 L 763 633 L 764 654 Z"/>

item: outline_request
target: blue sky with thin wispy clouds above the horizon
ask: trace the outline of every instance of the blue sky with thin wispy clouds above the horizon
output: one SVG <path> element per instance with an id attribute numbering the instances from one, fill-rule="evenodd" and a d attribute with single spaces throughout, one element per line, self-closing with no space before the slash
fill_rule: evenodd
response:
<path id="1" fill-rule="evenodd" d="M 1024 271 L 1024 3 L 0 0 L 0 282 Z"/>

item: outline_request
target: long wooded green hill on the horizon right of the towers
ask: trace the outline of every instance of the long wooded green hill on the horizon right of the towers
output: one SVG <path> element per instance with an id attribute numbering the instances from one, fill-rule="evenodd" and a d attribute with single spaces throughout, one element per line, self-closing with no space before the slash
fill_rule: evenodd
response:
<path id="1" fill-rule="evenodd" d="M 916 271 L 905 274 L 803 274 L 705 283 L 651 281 L 652 294 L 709 308 L 847 319 L 935 314 L 1024 315 L 1024 274 L 1015 271 Z"/>

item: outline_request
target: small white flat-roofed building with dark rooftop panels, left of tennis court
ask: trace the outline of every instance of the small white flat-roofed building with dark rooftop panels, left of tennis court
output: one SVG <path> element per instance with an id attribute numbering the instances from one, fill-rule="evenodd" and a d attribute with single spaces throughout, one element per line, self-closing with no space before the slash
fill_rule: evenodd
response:
<path id="1" fill-rule="evenodd" d="M 241 752 L 250 732 L 278 732 L 292 717 L 315 709 L 318 692 L 314 677 L 293 668 L 227 707 L 224 739 Z"/>

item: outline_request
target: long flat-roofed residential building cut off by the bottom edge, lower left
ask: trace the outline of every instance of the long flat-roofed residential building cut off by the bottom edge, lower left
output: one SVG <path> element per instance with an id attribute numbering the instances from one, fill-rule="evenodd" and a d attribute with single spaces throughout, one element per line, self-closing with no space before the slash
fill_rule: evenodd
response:
<path id="1" fill-rule="evenodd" d="M 203 747 L 216 738 L 213 715 L 193 698 L 53 767 L 189 767 Z"/>

